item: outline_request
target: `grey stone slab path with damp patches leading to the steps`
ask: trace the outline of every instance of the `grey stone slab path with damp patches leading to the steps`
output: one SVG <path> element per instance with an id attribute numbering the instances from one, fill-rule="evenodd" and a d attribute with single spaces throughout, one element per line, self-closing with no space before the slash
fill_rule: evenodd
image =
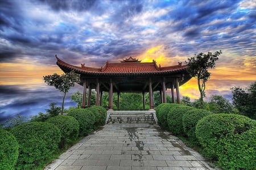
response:
<path id="1" fill-rule="evenodd" d="M 64 170 L 218 169 L 174 135 L 150 124 L 107 124 L 45 168 Z"/>

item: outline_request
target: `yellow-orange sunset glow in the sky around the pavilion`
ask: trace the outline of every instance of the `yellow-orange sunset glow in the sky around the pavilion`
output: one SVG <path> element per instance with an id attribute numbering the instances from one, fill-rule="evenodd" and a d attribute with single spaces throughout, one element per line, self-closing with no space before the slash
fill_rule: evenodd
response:
<path id="1" fill-rule="evenodd" d="M 164 46 L 157 45 L 146 50 L 140 56 L 137 56 L 142 62 L 152 62 L 161 66 L 177 65 L 177 62 L 183 62 L 188 57 L 167 57 L 164 53 Z M 221 63 L 221 62 L 220 62 Z M 208 90 L 229 91 L 230 87 L 237 86 L 241 81 L 254 82 L 256 80 L 256 66 L 254 58 L 243 58 L 238 64 L 220 65 L 215 69 L 210 69 L 210 79 L 207 82 L 206 92 Z M 43 76 L 49 74 L 63 74 L 63 71 L 56 65 L 46 66 L 33 64 L 31 61 L 19 61 L 19 63 L 0 63 L 0 85 L 25 85 L 40 86 L 44 84 Z M 197 80 L 192 78 L 189 82 L 180 87 L 183 96 L 189 96 L 191 99 L 198 99 L 200 94 L 197 87 Z"/>

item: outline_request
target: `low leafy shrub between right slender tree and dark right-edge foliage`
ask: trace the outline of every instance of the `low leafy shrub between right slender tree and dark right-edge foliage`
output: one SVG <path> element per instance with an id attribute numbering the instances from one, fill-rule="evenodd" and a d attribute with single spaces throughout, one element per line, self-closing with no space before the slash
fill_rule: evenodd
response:
<path id="1" fill-rule="evenodd" d="M 213 113 L 234 113 L 232 104 L 219 95 L 212 95 L 210 97 L 209 109 Z"/>

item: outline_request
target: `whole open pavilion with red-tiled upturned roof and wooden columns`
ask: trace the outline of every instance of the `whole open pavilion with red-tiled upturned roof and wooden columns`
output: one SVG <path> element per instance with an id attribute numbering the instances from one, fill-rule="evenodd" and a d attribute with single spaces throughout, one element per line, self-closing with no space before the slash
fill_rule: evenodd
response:
<path id="1" fill-rule="evenodd" d="M 143 109 L 145 109 L 145 92 L 149 92 L 150 109 L 154 109 L 153 92 L 159 91 L 162 103 L 166 103 L 167 88 L 171 89 L 172 103 L 175 103 L 174 89 L 176 88 L 177 103 L 180 104 L 179 86 L 191 79 L 186 71 L 187 65 L 161 67 L 156 61 L 141 62 L 136 58 L 129 57 L 119 63 L 106 62 L 100 68 L 88 67 L 85 64 L 73 66 L 57 59 L 57 65 L 65 73 L 74 70 L 80 74 L 80 85 L 84 87 L 82 107 L 85 107 L 86 90 L 88 88 L 88 103 L 92 89 L 96 90 L 96 105 L 101 105 L 102 92 L 109 92 L 109 109 L 113 109 L 113 93 L 117 92 L 117 108 L 119 108 L 120 92 L 139 92 L 143 95 Z"/>

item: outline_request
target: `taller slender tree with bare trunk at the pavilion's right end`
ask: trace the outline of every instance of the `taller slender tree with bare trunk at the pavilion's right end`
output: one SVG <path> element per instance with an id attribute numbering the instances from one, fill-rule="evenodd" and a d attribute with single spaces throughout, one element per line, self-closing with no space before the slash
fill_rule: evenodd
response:
<path id="1" fill-rule="evenodd" d="M 197 78 L 197 86 L 200 91 L 200 104 L 203 108 L 203 98 L 205 97 L 205 82 L 210 78 L 208 69 L 215 67 L 215 62 L 218 60 L 218 56 L 222 54 L 221 50 L 214 53 L 208 52 L 207 54 L 199 53 L 194 57 L 188 58 L 185 61 L 188 65 L 188 73 L 191 76 Z"/>

